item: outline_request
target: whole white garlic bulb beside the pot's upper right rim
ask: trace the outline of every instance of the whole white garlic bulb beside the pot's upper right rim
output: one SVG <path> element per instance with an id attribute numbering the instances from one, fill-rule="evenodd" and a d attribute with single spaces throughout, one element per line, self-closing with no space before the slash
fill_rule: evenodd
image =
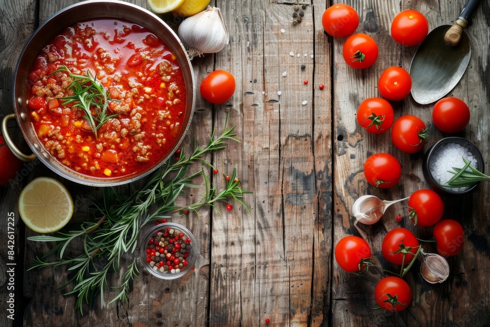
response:
<path id="1" fill-rule="evenodd" d="M 191 59 L 203 53 L 218 52 L 229 42 L 220 8 L 210 6 L 185 19 L 179 26 L 179 37 L 190 48 Z"/>

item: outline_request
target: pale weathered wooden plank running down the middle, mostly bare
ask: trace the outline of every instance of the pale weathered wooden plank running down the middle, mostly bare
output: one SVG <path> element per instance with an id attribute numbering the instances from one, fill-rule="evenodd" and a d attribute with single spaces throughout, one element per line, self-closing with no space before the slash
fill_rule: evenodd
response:
<path id="1" fill-rule="evenodd" d="M 318 217 L 312 149 L 314 85 L 303 84 L 305 79 L 313 82 L 314 76 L 313 9 L 308 6 L 303 22 L 294 26 L 291 4 L 245 1 L 229 6 L 237 11 L 236 26 L 231 25 L 230 31 L 236 40 L 232 39 L 224 57 L 220 53 L 217 68 L 227 67 L 228 57 L 232 73 L 239 66 L 234 60 L 244 63 L 242 71 L 234 73 L 241 76 L 237 89 L 242 93 L 243 113 L 237 112 L 237 103 L 231 117 L 243 119 L 242 167 L 248 176 L 242 181 L 255 193 L 251 219 L 242 213 L 228 215 L 228 222 L 213 217 L 211 289 L 218 290 L 211 294 L 210 322 L 234 325 L 240 319 L 242 325 L 256 326 L 269 318 L 279 325 L 306 325 L 311 319 L 313 242 L 316 237 L 323 240 L 321 229 L 314 233 Z M 241 58 L 235 52 L 242 53 Z M 318 69 L 325 78 L 321 65 Z M 320 104 L 318 109 L 329 128 L 329 105 Z M 236 156 L 241 147 L 223 153 L 223 160 L 240 164 Z M 323 147 L 320 143 L 319 149 Z M 328 152 L 322 154 L 329 157 Z M 239 227 L 224 229 L 230 219 Z M 241 251 L 235 249 L 235 242 L 242 242 Z M 317 277 L 325 285 L 319 286 L 320 297 L 325 279 L 321 274 Z M 225 295 L 226 300 L 214 301 L 213 295 Z"/>

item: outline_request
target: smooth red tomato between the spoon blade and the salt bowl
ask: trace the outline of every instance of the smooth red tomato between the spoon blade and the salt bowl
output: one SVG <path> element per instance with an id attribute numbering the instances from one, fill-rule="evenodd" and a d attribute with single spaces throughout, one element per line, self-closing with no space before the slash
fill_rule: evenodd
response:
<path id="1" fill-rule="evenodd" d="M 432 121 L 444 133 L 456 133 L 469 123 L 469 108 L 465 101 L 448 97 L 436 102 Z"/>

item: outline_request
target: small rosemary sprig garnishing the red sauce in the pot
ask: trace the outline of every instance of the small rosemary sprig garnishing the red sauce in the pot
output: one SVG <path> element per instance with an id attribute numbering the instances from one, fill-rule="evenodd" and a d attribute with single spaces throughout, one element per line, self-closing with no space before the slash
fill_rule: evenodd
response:
<path id="1" fill-rule="evenodd" d="M 109 119 L 118 116 L 107 115 L 109 101 L 119 102 L 119 100 L 108 98 L 109 91 L 97 80 L 97 78 L 90 74 L 89 70 L 87 70 L 87 75 L 77 75 L 71 73 L 68 67 L 63 65 L 50 75 L 57 72 L 68 72 L 68 75 L 73 78 L 73 81 L 68 85 L 68 88 L 73 90 L 74 95 L 60 98 L 61 100 L 65 100 L 62 104 L 66 105 L 76 101 L 72 108 L 81 108 L 83 110 L 85 113 L 85 116 L 83 117 L 87 120 L 97 138 L 97 130 L 100 126 L 104 125 Z M 91 108 L 95 108 L 97 112 L 95 116 L 92 115 Z"/>

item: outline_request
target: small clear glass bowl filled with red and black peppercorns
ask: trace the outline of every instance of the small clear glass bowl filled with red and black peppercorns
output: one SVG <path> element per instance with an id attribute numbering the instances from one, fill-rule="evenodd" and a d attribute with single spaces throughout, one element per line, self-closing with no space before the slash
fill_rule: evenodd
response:
<path id="1" fill-rule="evenodd" d="M 175 223 L 162 223 L 152 227 L 143 238 L 141 261 L 152 275 L 176 279 L 194 267 L 197 259 L 195 247 L 196 239 L 189 229 Z M 150 253 L 147 253 L 148 249 Z M 155 255 L 151 256 L 153 251 Z"/>

